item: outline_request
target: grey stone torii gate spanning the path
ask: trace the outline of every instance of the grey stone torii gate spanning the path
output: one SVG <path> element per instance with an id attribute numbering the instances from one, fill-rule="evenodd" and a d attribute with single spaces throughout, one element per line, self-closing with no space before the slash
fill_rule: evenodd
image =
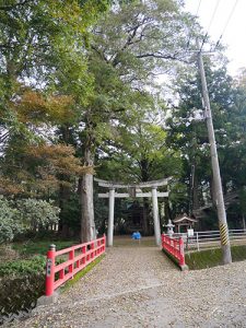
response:
<path id="1" fill-rule="evenodd" d="M 166 186 L 171 178 L 163 178 L 160 180 L 153 180 L 140 184 L 124 185 L 121 183 L 106 181 L 94 177 L 94 180 L 98 183 L 99 187 L 108 188 L 109 192 L 98 194 L 98 198 L 109 198 L 109 212 L 107 224 L 107 245 L 113 246 L 114 236 L 114 212 L 115 212 L 115 198 L 129 198 L 129 197 L 152 197 L 153 219 L 154 219 L 154 235 L 156 245 L 161 244 L 161 227 L 159 216 L 159 197 L 168 197 L 168 191 L 160 192 L 157 187 Z M 115 192 L 115 189 L 128 189 L 128 192 L 119 194 Z M 138 192 L 137 189 L 151 188 L 151 192 Z M 137 190 L 137 192 L 136 192 Z"/>

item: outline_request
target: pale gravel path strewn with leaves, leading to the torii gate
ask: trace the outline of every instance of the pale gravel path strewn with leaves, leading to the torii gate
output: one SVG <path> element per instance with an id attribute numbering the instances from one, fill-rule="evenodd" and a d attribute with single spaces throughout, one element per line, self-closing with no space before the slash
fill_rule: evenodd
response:
<path id="1" fill-rule="evenodd" d="M 246 262 L 180 272 L 156 247 L 115 247 L 58 303 L 13 327 L 246 327 Z"/>

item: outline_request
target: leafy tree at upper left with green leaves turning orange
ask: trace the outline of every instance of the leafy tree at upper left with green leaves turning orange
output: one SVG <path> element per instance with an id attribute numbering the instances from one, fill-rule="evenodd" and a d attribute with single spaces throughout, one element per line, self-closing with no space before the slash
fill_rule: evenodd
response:
<path id="1" fill-rule="evenodd" d="M 93 83 L 87 72 L 86 48 L 90 39 L 87 30 L 95 23 L 97 16 L 107 10 L 107 5 L 108 1 L 104 0 L 70 2 L 13 0 L 0 5 L 3 168 L 7 168 L 10 160 L 22 166 L 20 161 L 31 145 L 43 147 L 44 142 L 57 143 L 59 140 L 54 132 L 59 126 L 61 130 L 69 131 L 71 126 L 79 125 L 81 108 L 87 104 Z M 26 91 L 26 85 L 38 89 L 39 94 L 33 90 Z M 63 106 L 65 102 L 67 106 Z M 63 110 L 65 107 L 67 110 Z M 62 142 L 67 145 L 69 143 L 68 140 Z M 40 150 L 42 147 L 37 148 Z M 48 162 L 50 171 L 55 173 L 52 176 L 56 175 L 59 181 L 67 179 L 69 183 L 69 178 L 65 179 L 65 175 L 69 176 L 68 172 L 61 173 L 54 169 L 52 165 L 57 155 L 56 161 L 63 161 L 66 164 L 66 160 L 70 159 L 71 165 L 82 166 L 79 160 L 75 160 L 74 151 L 68 147 L 66 155 L 61 151 L 66 150 L 63 144 L 50 149 L 54 153 L 46 148 L 46 155 L 43 152 L 46 159 L 45 161 L 38 159 L 38 165 L 46 166 L 48 156 L 52 162 Z M 67 162 L 67 165 L 70 164 Z M 22 174 L 24 171 L 26 174 L 24 178 L 23 175 L 22 178 L 17 178 L 16 174 L 15 184 L 19 179 L 32 180 L 33 175 L 30 175 L 32 165 L 27 166 L 19 167 L 22 168 Z M 3 171 L 8 174 L 8 169 Z M 75 171 L 70 166 L 71 175 L 74 175 Z M 84 169 L 85 172 L 89 171 Z M 44 171 L 42 173 L 38 172 L 44 183 L 44 176 L 47 177 L 47 174 L 45 175 Z M 78 173 L 77 175 L 81 176 Z M 4 178 L 7 183 L 8 177 Z M 14 175 L 11 178 L 13 180 Z"/>

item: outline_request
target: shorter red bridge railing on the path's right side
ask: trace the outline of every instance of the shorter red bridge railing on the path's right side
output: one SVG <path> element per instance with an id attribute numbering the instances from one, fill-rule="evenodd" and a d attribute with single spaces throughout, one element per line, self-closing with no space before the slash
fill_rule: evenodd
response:
<path id="1" fill-rule="evenodd" d="M 178 265 L 180 268 L 184 268 L 186 266 L 184 239 L 181 237 L 175 239 L 165 234 L 162 234 L 162 248 L 178 260 Z"/>

